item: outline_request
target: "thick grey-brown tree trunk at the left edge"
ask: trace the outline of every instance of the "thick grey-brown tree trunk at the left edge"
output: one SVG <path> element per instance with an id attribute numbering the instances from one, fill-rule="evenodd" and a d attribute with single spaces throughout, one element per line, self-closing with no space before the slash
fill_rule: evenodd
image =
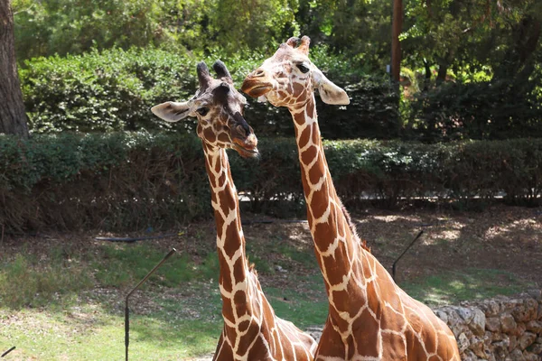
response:
<path id="1" fill-rule="evenodd" d="M 0 133 L 28 137 L 23 93 L 17 75 L 14 14 L 10 0 L 0 0 Z"/>

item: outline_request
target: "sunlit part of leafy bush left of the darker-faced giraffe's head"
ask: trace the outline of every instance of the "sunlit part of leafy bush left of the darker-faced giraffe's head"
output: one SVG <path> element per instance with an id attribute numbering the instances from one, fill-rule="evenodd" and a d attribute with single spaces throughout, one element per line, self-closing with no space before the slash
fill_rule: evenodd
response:
<path id="1" fill-rule="evenodd" d="M 149 107 L 192 96 L 195 64 L 186 54 L 136 49 L 32 60 L 20 78 L 33 133 L 167 126 Z"/>

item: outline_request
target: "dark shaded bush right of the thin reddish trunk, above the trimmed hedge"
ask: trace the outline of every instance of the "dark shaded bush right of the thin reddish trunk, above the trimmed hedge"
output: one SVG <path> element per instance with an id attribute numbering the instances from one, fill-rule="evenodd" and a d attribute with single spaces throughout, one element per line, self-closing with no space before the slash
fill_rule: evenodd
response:
<path id="1" fill-rule="evenodd" d="M 410 125 L 426 142 L 542 137 L 542 83 L 530 79 L 446 83 L 411 103 Z"/>

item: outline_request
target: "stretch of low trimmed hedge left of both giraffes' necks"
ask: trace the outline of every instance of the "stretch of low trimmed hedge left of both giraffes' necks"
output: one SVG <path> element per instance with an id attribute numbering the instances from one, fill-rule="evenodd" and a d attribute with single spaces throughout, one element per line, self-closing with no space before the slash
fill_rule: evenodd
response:
<path id="1" fill-rule="evenodd" d="M 0 147 L 7 227 L 159 227 L 210 209 L 201 144 L 187 134 L 6 136 Z"/>

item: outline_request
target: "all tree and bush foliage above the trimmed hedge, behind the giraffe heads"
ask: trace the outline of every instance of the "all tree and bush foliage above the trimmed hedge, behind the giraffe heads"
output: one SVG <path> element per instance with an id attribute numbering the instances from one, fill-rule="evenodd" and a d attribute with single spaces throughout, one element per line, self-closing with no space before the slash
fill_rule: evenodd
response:
<path id="1" fill-rule="evenodd" d="M 225 60 L 240 84 L 278 42 L 307 34 L 316 65 L 352 100 L 346 108 L 318 104 L 322 118 L 335 120 L 322 123 L 326 138 L 439 142 L 539 136 L 541 4 L 406 1 L 401 46 L 410 87 L 401 96 L 384 72 L 390 2 L 14 0 L 14 10 L 19 60 L 89 52 L 23 63 L 34 133 L 168 127 L 147 107 L 192 95 L 197 60 Z M 284 109 L 249 105 L 260 134 L 292 134 Z"/>

